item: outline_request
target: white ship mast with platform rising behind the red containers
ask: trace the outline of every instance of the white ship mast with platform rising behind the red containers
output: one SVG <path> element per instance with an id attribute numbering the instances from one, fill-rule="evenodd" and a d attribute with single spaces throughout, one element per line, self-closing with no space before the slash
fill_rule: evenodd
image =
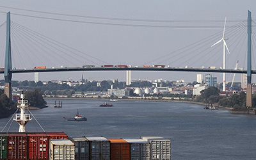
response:
<path id="1" fill-rule="evenodd" d="M 30 120 L 30 114 L 25 113 L 25 109 L 28 109 L 28 100 L 25 100 L 25 95 L 23 93 L 20 94 L 20 100 L 18 100 L 17 108 L 20 109 L 20 113 L 16 113 L 15 120 L 20 125 L 19 132 L 26 132 L 25 125 L 28 124 Z"/>

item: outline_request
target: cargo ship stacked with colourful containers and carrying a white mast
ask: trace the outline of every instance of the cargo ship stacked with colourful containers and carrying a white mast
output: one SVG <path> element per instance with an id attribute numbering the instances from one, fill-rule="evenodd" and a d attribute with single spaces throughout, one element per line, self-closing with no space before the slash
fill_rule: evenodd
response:
<path id="1" fill-rule="evenodd" d="M 65 132 L 26 132 L 31 120 L 24 112 L 28 100 L 18 101 L 20 114 L 14 118 L 19 132 L 0 132 L 1 160 L 171 160 L 171 141 L 163 137 L 141 136 L 138 139 L 101 137 L 68 137 Z M 79 115 L 79 114 L 77 114 Z"/>

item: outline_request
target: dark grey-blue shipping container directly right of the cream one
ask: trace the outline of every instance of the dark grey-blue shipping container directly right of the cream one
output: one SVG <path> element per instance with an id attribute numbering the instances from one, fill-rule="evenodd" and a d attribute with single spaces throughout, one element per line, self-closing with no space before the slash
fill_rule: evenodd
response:
<path id="1" fill-rule="evenodd" d="M 75 159 L 76 160 L 82 160 L 82 159 L 86 159 L 89 160 L 90 159 L 90 152 L 89 152 L 89 140 L 87 140 L 84 137 L 81 138 L 71 138 L 70 139 L 74 144 L 75 144 Z"/>

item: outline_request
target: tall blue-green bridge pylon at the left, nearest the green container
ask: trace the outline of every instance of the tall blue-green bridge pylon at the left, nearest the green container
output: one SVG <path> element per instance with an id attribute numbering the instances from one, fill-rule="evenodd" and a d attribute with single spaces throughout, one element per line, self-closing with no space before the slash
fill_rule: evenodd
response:
<path id="1" fill-rule="evenodd" d="M 7 13 L 6 19 L 6 48 L 4 61 L 4 93 L 9 99 L 12 99 L 12 54 L 11 54 L 11 18 L 10 12 Z"/>

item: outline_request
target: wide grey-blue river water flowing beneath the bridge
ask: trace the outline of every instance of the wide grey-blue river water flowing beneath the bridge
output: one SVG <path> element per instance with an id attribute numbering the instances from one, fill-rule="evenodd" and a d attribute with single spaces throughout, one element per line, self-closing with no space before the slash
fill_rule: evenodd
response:
<path id="1" fill-rule="evenodd" d="M 50 105 L 54 100 L 58 102 L 46 99 Z M 172 160 L 256 159 L 255 115 L 231 115 L 223 109 L 206 110 L 197 104 L 177 102 L 119 100 L 111 102 L 113 107 L 109 108 L 99 107 L 103 100 L 63 99 L 62 102 L 63 108 L 49 106 L 31 111 L 45 131 L 63 131 L 70 137 L 163 136 L 172 141 Z M 87 121 L 64 121 L 63 116 L 72 118 L 77 109 Z M 42 131 L 35 118 L 26 125 L 27 131 Z M 2 129 L 9 119 L 0 119 Z M 4 131 L 8 128 L 19 131 L 16 122 L 7 125 Z"/>

